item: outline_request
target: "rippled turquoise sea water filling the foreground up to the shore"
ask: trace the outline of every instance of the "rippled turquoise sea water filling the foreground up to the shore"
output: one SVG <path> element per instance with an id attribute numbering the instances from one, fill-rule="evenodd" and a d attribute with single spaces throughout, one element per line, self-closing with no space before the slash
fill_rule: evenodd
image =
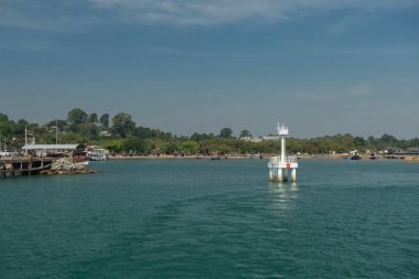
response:
<path id="1" fill-rule="evenodd" d="M 419 163 L 90 168 L 0 180 L 0 278 L 419 278 Z"/>

